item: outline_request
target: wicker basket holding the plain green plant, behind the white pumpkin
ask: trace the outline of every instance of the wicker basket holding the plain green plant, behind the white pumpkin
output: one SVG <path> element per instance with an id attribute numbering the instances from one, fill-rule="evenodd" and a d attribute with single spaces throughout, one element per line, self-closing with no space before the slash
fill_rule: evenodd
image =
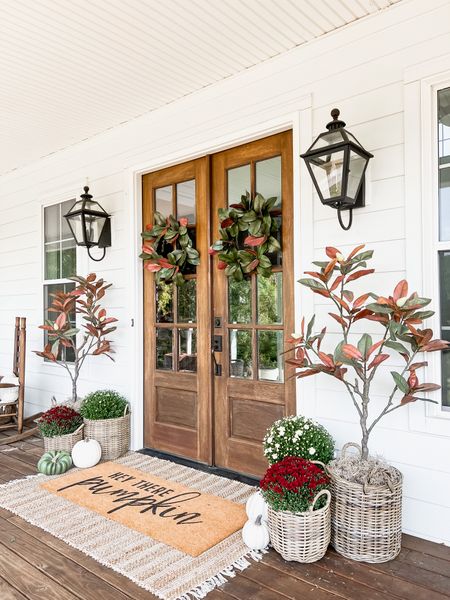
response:
<path id="1" fill-rule="evenodd" d="M 117 419 L 84 419 L 84 437 L 97 440 L 102 447 L 102 460 L 119 458 L 130 448 L 130 412 L 125 407 Z"/>

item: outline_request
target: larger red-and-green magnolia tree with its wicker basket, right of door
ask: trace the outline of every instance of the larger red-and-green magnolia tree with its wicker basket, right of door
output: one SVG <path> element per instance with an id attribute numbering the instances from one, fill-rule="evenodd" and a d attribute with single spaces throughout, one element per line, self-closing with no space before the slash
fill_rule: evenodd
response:
<path id="1" fill-rule="evenodd" d="M 433 339 L 432 330 L 422 328 L 424 320 L 434 314 L 424 310 L 430 300 L 409 293 L 405 280 L 388 296 L 371 291 L 358 296 L 353 293 L 350 284 L 374 272 L 367 268 L 373 252 L 363 249 L 364 245 L 358 246 L 345 257 L 328 247 L 327 260 L 315 262 L 317 270 L 300 280 L 330 300 L 333 311 L 329 315 L 339 324 L 341 339 L 334 348 L 324 350 L 326 327 L 316 333 L 315 317 L 306 326 L 303 319 L 300 333 L 291 339 L 294 356 L 287 362 L 296 368 L 297 377 L 324 374 L 337 379 L 348 392 L 358 415 L 361 444 L 352 444 L 357 446 L 358 456 L 349 455 L 347 445 L 328 465 L 333 494 L 332 544 L 348 558 L 385 562 L 400 551 L 402 475 L 370 456 L 370 435 L 386 415 L 412 402 L 433 402 L 426 393 L 440 386 L 420 381 L 418 372 L 427 365 L 421 355 L 449 344 Z M 367 321 L 379 324 L 376 339 L 368 333 L 354 333 L 357 323 Z M 400 357 L 403 367 L 390 371 L 392 389 L 384 405 L 375 408 L 373 382 L 386 377 L 386 361 L 392 355 Z"/>

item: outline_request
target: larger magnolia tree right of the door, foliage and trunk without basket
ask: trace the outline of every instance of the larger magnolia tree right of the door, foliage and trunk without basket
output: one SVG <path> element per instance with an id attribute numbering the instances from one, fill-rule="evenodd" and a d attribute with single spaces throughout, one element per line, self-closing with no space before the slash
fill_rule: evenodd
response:
<path id="1" fill-rule="evenodd" d="M 294 345 L 294 356 L 287 362 L 297 369 L 297 377 L 324 373 L 335 377 L 346 387 L 358 413 L 362 459 L 366 461 L 369 457 L 369 436 L 380 419 L 410 402 L 435 402 L 425 398 L 424 394 L 438 390 L 440 386 L 419 381 L 417 371 L 428 363 L 418 357 L 422 353 L 444 350 L 449 343 L 433 339 L 431 329 L 421 328 L 424 320 L 434 314 L 432 310 L 423 310 L 431 300 L 418 296 L 416 292 L 410 293 L 405 280 L 395 286 L 392 295 L 366 292 L 355 297 L 349 284 L 375 271 L 367 268 L 373 251 L 364 251 L 363 248 L 364 244 L 345 257 L 337 248 L 328 247 L 328 260 L 314 262 L 318 270 L 308 271 L 306 275 L 310 277 L 300 279 L 302 285 L 334 304 L 335 310 L 328 314 L 339 323 L 342 339 L 332 352 L 324 352 L 322 342 L 326 327 L 320 333 L 314 333 L 315 316 L 306 327 L 303 319 L 300 333 L 293 334 L 290 340 Z M 375 341 L 364 333 L 355 345 L 351 343 L 354 325 L 364 320 L 380 324 L 379 339 Z M 404 366 L 391 371 L 392 391 L 385 406 L 369 420 L 372 382 L 380 366 L 391 358 L 393 352 L 401 356 Z"/>

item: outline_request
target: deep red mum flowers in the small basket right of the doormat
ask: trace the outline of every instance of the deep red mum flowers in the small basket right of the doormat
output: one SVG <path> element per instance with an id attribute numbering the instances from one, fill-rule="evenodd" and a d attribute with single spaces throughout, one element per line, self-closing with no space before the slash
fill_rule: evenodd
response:
<path id="1" fill-rule="evenodd" d="M 321 491 L 328 489 L 329 478 L 323 469 L 305 458 L 286 456 L 270 466 L 260 482 L 262 495 L 274 510 L 305 512 Z M 326 503 L 319 498 L 315 509 Z"/>

